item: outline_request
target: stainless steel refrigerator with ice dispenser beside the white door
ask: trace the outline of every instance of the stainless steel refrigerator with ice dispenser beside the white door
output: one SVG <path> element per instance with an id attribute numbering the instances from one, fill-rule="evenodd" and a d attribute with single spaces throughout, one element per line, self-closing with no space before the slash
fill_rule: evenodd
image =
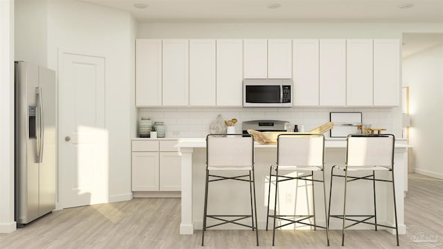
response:
<path id="1" fill-rule="evenodd" d="M 15 221 L 21 227 L 55 209 L 55 71 L 15 62 Z"/>

